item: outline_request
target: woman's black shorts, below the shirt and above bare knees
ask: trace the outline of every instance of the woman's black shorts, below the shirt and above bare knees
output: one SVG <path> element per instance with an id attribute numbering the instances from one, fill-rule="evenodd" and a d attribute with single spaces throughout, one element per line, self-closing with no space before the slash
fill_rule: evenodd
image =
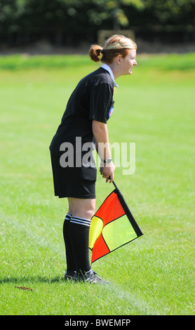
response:
<path id="1" fill-rule="evenodd" d="M 51 165 L 53 171 L 53 185 L 55 196 L 74 198 L 95 198 L 95 181 L 97 169 L 93 166 L 62 167 L 60 157 L 63 152 L 58 152 L 59 147 L 50 146 Z M 82 154 L 83 156 L 83 154 Z M 74 159 L 76 155 L 74 154 Z M 92 156 L 93 157 L 93 156 Z"/>

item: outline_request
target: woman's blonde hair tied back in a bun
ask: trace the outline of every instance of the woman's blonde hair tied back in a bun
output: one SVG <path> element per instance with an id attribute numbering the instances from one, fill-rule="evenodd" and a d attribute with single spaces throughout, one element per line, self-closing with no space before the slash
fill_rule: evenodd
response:
<path id="1" fill-rule="evenodd" d="M 128 49 L 137 49 L 137 45 L 130 38 L 121 34 L 114 34 L 105 41 L 105 46 L 92 45 L 89 56 L 94 62 L 112 63 L 114 57 L 121 55 L 123 58 L 128 55 Z"/>

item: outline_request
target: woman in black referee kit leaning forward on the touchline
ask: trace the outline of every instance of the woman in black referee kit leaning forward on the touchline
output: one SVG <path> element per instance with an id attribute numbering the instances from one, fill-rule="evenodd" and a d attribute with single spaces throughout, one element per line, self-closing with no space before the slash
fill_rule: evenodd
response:
<path id="1" fill-rule="evenodd" d="M 121 35 L 107 39 L 102 48 L 90 47 L 92 60 L 104 63 L 81 79 L 69 98 L 62 121 L 50 145 L 55 196 L 67 197 L 69 210 L 63 225 L 67 271 L 65 279 L 107 283 L 90 268 L 88 235 L 95 212 L 97 169 L 93 147 L 101 159 L 100 173 L 114 180 L 107 120 L 114 110 L 115 79 L 132 74 L 137 46 Z"/>

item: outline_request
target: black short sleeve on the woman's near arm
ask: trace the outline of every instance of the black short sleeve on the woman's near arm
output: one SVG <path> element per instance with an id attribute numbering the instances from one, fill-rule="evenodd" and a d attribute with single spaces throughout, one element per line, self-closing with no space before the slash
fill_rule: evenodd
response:
<path id="1" fill-rule="evenodd" d="M 89 119 L 106 124 L 112 96 L 113 88 L 110 84 L 100 83 L 93 86 L 90 93 Z"/>

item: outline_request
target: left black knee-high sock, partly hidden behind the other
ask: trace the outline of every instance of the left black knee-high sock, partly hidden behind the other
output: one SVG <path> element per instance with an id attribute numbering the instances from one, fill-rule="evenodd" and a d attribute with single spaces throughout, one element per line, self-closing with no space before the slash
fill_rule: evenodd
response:
<path id="1" fill-rule="evenodd" d="M 69 235 L 69 222 L 71 219 L 71 215 L 67 213 L 65 217 L 65 222 L 63 225 L 63 236 L 65 240 L 65 251 L 66 251 L 66 259 L 67 259 L 67 272 L 75 272 L 76 271 L 76 263 L 74 260 L 74 252 L 72 249 L 72 242 Z"/>

